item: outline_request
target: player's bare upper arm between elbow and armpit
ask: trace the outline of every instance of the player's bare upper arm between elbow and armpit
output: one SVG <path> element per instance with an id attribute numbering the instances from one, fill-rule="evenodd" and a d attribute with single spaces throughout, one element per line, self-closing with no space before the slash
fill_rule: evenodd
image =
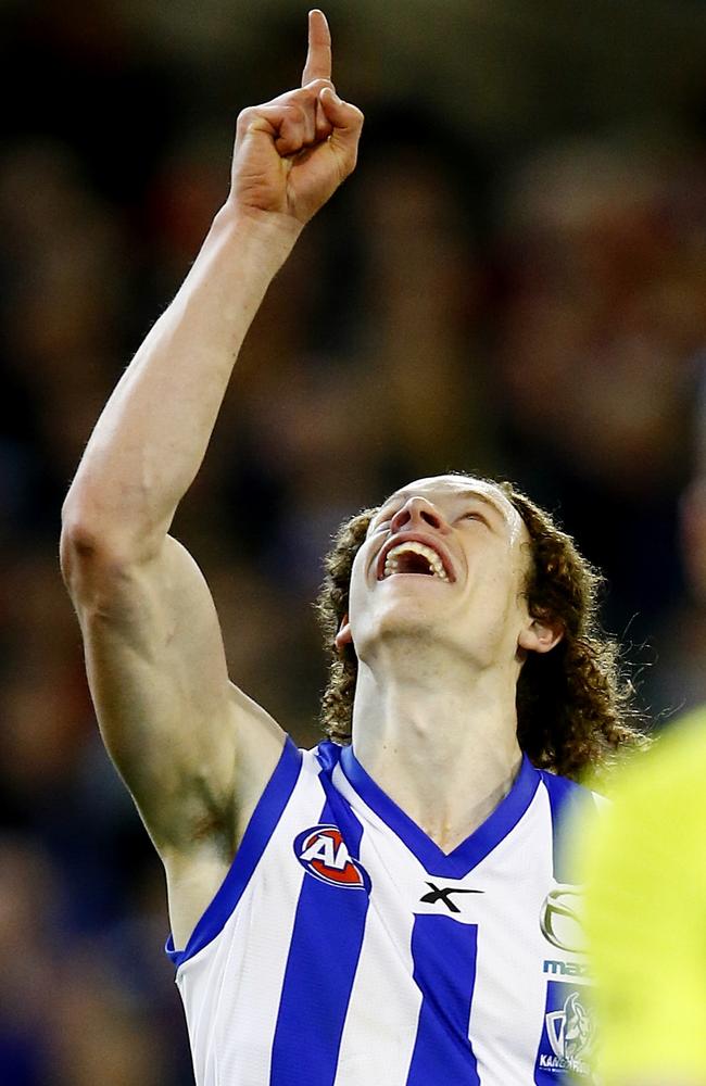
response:
<path id="1" fill-rule="evenodd" d="M 214 602 L 176 540 L 149 563 L 96 576 L 78 613 L 108 750 L 161 853 L 216 836 L 229 849 L 239 761 L 257 783 L 250 733 L 277 743 L 279 730 L 229 683 Z"/>

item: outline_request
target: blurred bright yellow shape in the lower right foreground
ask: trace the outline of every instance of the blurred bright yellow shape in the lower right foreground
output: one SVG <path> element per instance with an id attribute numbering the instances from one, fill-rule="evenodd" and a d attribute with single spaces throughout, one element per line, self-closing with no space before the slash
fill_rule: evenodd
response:
<path id="1" fill-rule="evenodd" d="M 706 1084 L 706 708 L 617 776 L 587 832 L 603 1086 Z"/>

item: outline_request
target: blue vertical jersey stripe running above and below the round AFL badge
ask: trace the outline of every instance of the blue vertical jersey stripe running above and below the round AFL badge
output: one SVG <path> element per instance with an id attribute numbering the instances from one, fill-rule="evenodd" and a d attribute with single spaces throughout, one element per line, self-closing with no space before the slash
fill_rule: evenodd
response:
<path id="1" fill-rule="evenodd" d="M 320 780 L 326 788 L 325 776 Z M 340 796 L 327 800 L 319 822 L 338 825 L 357 859 L 363 828 Z M 367 908 L 366 891 L 304 876 L 273 1041 L 270 1086 L 333 1083 Z"/>

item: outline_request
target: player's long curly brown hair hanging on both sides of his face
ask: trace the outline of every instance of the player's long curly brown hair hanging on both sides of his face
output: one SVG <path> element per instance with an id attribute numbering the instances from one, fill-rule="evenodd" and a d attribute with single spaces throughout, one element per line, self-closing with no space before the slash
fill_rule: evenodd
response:
<path id="1" fill-rule="evenodd" d="M 530 616 L 558 623 L 564 633 L 551 652 L 529 653 L 522 666 L 516 699 L 519 745 L 539 769 L 575 780 L 589 772 L 600 776 L 619 750 L 647 745 L 619 646 L 598 623 L 604 579 L 552 517 L 513 483 L 483 481 L 507 497 L 529 532 L 531 559 L 524 594 Z M 329 738 L 342 744 L 351 742 L 357 658 L 350 644 L 339 655 L 333 640 L 348 613 L 353 559 L 376 513 L 364 509 L 341 526 L 325 558 L 326 577 L 316 602 L 330 657 L 322 724 Z"/>

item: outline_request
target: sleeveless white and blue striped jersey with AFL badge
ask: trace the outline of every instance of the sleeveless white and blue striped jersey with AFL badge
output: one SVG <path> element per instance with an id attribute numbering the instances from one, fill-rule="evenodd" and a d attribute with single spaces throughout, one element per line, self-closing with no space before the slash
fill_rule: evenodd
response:
<path id="1" fill-rule="evenodd" d="M 559 847 L 580 796 L 525 757 L 445 854 L 351 747 L 288 740 L 187 947 L 167 944 L 198 1086 L 590 1083 Z"/>

